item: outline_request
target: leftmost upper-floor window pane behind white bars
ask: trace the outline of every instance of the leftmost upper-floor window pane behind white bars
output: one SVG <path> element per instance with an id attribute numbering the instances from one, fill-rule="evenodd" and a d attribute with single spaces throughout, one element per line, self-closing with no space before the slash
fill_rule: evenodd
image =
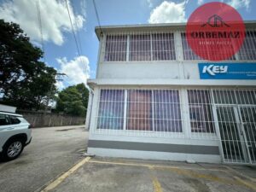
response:
<path id="1" fill-rule="evenodd" d="M 126 35 L 107 35 L 104 61 L 126 61 L 126 49 Z"/>

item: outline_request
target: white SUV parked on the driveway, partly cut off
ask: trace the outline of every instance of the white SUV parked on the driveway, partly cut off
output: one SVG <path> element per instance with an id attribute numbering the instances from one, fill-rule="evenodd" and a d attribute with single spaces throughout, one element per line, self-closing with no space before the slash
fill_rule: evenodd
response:
<path id="1" fill-rule="evenodd" d="M 20 114 L 0 112 L 0 154 L 15 160 L 32 140 L 30 124 Z"/>

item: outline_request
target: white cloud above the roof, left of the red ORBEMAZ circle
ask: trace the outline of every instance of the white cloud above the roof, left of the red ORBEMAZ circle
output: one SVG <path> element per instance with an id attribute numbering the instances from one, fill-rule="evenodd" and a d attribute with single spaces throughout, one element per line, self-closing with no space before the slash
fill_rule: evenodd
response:
<path id="1" fill-rule="evenodd" d="M 185 4 L 187 1 L 182 3 L 174 3 L 172 1 L 164 1 L 158 7 L 154 8 L 148 19 L 149 23 L 177 23 L 185 22 Z"/>

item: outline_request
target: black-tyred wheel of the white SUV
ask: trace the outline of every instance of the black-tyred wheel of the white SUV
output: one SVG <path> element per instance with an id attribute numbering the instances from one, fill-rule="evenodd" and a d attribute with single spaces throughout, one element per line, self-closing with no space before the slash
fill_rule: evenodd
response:
<path id="1" fill-rule="evenodd" d="M 7 142 L 3 148 L 3 160 L 15 160 L 20 156 L 24 148 L 24 142 L 17 138 Z"/>

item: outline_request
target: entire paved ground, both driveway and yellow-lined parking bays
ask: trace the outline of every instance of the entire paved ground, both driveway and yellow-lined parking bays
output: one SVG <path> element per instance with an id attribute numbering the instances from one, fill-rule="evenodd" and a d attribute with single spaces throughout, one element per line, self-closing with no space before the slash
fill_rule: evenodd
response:
<path id="1" fill-rule="evenodd" d="M 256 191 L 255 166 L 83 157 L 83 127 L 34 129 L 17 160 L 0 163 L 2 192 Z"/>

